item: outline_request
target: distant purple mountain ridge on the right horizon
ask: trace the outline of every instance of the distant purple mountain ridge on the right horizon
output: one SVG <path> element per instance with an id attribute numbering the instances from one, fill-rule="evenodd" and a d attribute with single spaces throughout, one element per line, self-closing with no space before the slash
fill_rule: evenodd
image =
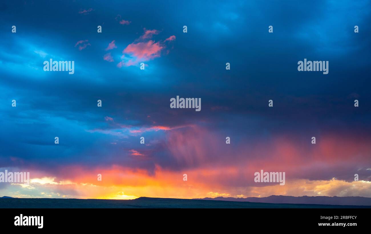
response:
<path id="1" fill-rule="evenodd" d="M 271 195 L 269 197 L 247 197 L 247 198 L 234 198 L 234 197 L 216 197 L 216 198 L 194 198 L 197 200 L 217 200 L 217 201 L 248 201 L 259 203 L 277 203 L 277 204 L 319 204 L 319 205 L 371 205 L 371 197 L 293 197 L 283 195 Z"/>

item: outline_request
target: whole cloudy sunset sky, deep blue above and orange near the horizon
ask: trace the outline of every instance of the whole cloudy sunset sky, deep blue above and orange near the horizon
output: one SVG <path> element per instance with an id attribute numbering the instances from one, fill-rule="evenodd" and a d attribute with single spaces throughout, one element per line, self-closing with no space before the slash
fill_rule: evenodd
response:
<path id="1" fill-rule="evenodd" d="M 0 196 L 371 197 L 370 10 L 1 2 L 0 171 L 31 180 L 0 183 Z M 50 58 L 74 61 L 74 74 L 44 71 Z M 329 73 L 298 71 L 304 58 Z M 176 96 L 201 98 L 201 111 L 170 108 Z M 260 170 L 285 172 L 285 185 L 255 183 Z"/>

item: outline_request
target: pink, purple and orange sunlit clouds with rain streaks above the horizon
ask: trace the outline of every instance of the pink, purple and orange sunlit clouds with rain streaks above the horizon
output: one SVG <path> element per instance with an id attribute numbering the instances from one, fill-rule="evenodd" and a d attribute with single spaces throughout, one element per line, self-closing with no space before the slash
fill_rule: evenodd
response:
<path id="1" fill-rule="evenodd" d="M 109 117 L 106 120 L 110 121 Z M 132 126 L 122 127 L 137 133 L 164 131 L 167 141 L 161 150 L 171 155 L 171 166 L 166 163 L 160 166 L 161 160 L 152 160 L 155 157 L 151 150 L 141 148 L 143 153 L 125 149 L 138 156 L 131 157 L 134 160 L 131 166 L 145 165 L 144 168 L 74 166 L 59 168 L 49 174 L 39 171 L 38 174 L 31 173 L 30 187 L 21 189 L 38 191 L 36 188 L 42 188 L 48 196 L 50 193 L 46 190 L 50 189 L 66 197 L 113 199 L 141 196 L 203 198 L 221 194 L 230 197 L 370 197 L 371 194 L 370 174 L 367 174 L 370 170 L 363 168 L 371 162 L 369 157 L 364 157 L 370 152 L 371 146 L 366 144 L 370 139 L 327 134 L 319 136 L 316 144 L 311 144 L 309 138 L 308 144 L 298 145 L 292 138 L 280 135 L 269 142 L 247 144 L 243 140 L 239 144 L 232 138 L 228 145 L 223 137 L 195 125 L 150 126 L 138 130 L 131 129 Z M 142 162 L 144 164 L 140 164 Z M 285 172 L 285 185 L 255 183 L 254 173 L 260 170 Z M 359 181 L 354 181 L 355 173 L 359 174 Z M 102 174 L 102 181 L 97 180 L 97 174 Z M 187 181 L 183 181 L 183 174 L 187 174 Z"/>

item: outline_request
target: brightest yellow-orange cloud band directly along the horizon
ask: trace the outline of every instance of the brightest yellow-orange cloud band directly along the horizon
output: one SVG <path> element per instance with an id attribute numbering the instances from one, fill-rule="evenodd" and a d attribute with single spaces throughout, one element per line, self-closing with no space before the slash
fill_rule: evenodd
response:
<path id="1" fill-rule="evenodd" d="M 291 196 L 364 196 L 370 197 L 371 182 L 342 180 L 290 180 L 286 185 L 265 183 L 264 186 L 233 186 L 221 185 L 225 176 L 238 176 L 236 167 L 198 168 L 181 171 L 169 171 L 159 166 L 154 173 L 146 170 L 131 169 L 122 166 L 95 168 L 87 170 L 79 167 L 66 167 L 63 177 L 55 176 L 32 178 L 27 191 L 53 191 L 53 197 L 68 198 L 103 198 L 133 199 L 136 197 L 168 197 L 168 198 L 203 198 L 203 197 L 267 197 L 269 195 Z M 68 173 L 67 173 L 68 172 Z M 187 181 L 183 181 L 183 174 Z M 97 175 L 102 175 L 102 181 Z M 68 175 L 68 176 L 66 176 Z M 20 186 L 14 184 L 12 186 Z M 58 195 L 59 194 L 59 195 Z M 13 195 L 29 197 L 29 195 Z M 36 194 L 34 197 L 45 197 Z"/>

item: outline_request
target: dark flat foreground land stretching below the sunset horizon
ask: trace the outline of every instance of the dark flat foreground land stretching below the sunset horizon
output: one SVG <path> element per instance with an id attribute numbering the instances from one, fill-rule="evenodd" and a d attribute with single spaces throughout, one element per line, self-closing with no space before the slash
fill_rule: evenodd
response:
<path id="1" fill-rule="evenodd" d="M 0 208 L 371 208 L 357 205 L 273 204 L 139 197 L 134 200 L 4 198 Z"/>

